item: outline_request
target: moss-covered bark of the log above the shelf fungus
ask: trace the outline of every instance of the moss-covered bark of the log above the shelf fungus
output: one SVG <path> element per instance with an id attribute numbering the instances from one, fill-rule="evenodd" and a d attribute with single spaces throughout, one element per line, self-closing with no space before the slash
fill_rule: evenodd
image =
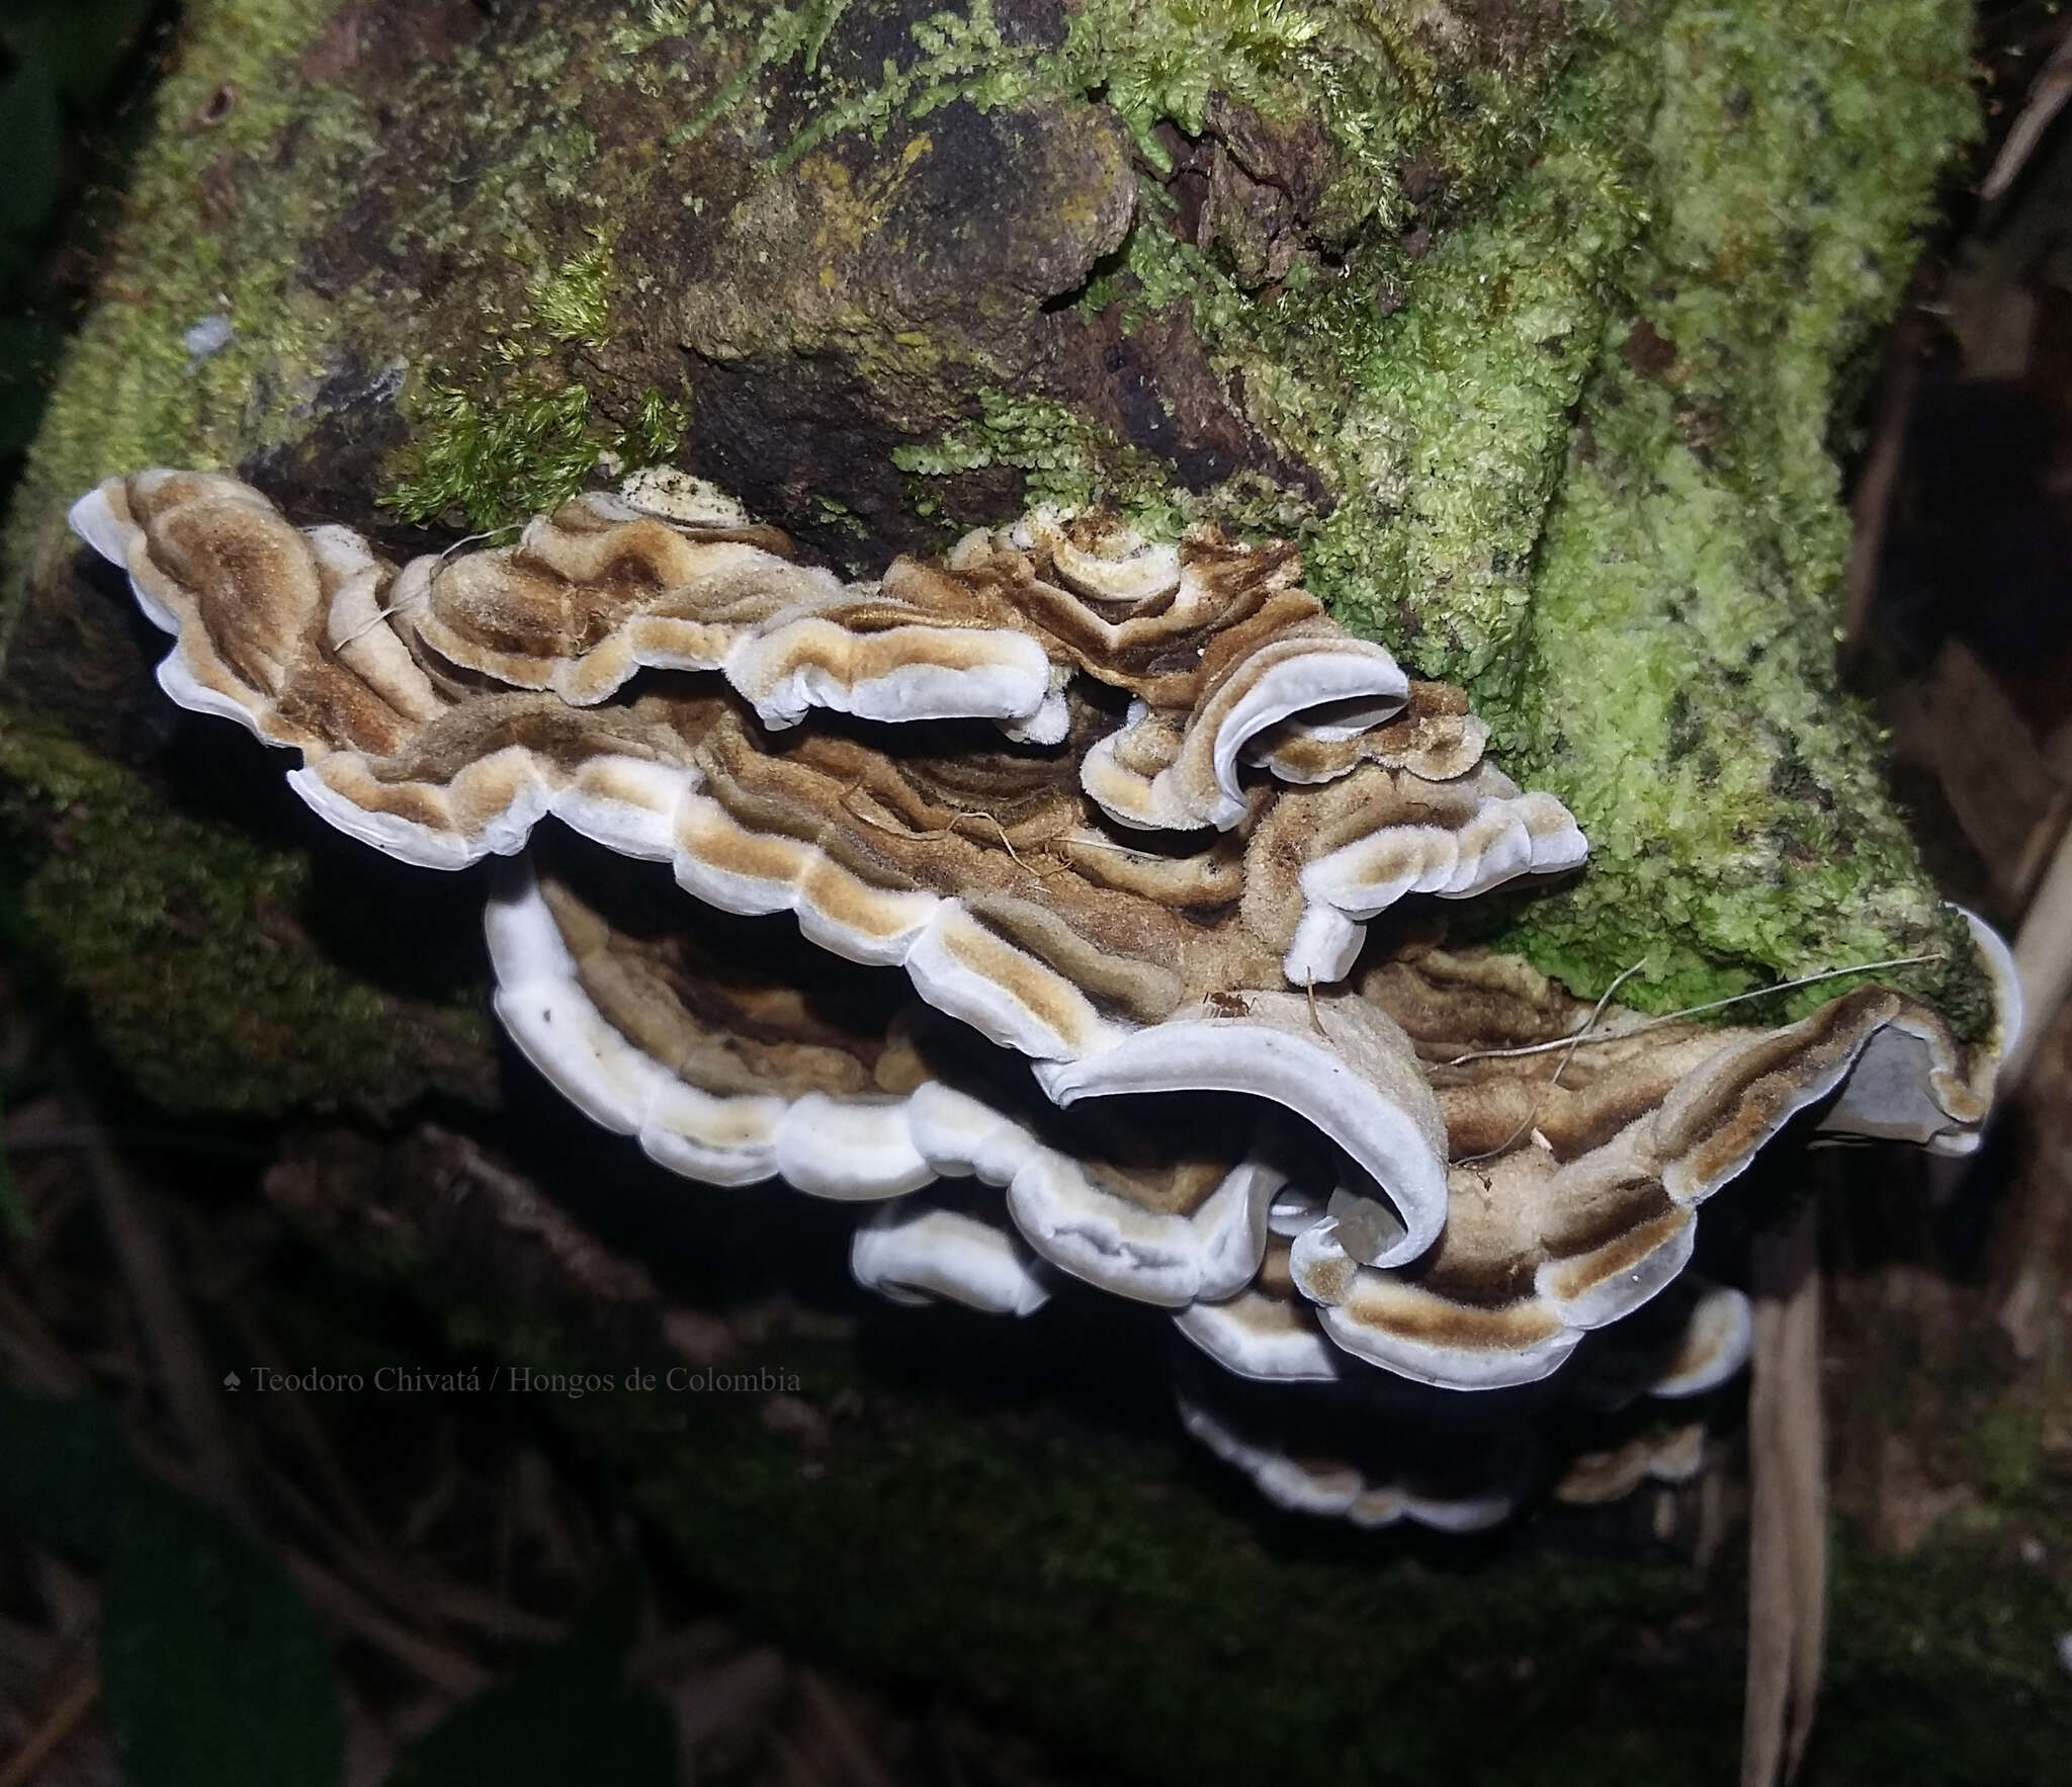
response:
<path id="1" fill-rule="evenodd" d="M 15 715 L 120 759 L 155 699 L 62 531 L 139 464 L 396 551 L 661 456 L 854 566 L 1100 498 L 1297 535 L 1471 684 L 1595 842 L 1496 918 L 1577 991 L 1946 949 L 1915 978 L 1962 1012 L 1830 670 L 1830 433 L 1968 124 L 1956 0 L 197 0 L 157 104 L 8 524 Z M 46 757 L 10 748 L 17 809 Z M 238 974 L 271 871 L 218 867 Z M 39 885 L 79 972 L 108 902 Z M 193 1032 L 180 952 L 128 937 L 95 1001 Z M 390 1101 L 412 1068 L 350 1034 L 338 1095 Z"/>

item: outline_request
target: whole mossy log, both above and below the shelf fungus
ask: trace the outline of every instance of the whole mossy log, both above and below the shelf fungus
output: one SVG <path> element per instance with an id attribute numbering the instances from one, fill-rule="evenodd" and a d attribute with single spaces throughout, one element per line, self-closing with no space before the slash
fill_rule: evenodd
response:
<path id="1" fill-rule="evenodd" d="M 170 1107 L 443 1097 L 487 1128 L 474 879 L 321 838 L 257 746 L 172 719 L 62 510 L 213 464 L 402 556 L 673 460 L 841 568 L 1038 500 L 1295 537 L 1310 585 L 1465 682 L 1591 833 L 1591 871 L 1492 941 L 1583 997 L 1645 962 L 1622 995 L 1656 1010 L 1944 949 L 1912 985 L 1962 1014 L 1968 949 L 1832 672 L 1830 446 L 1968 129 L 1964 29 L 1950 0 L 195 4 L 8 522 L 8 896 Z M 211 317 L 228 340 L 191 334 Z M 398 1186 L 468 1207 L 466 1173 L 410 1159 L 305 1213 L 501 1354 L 696 1354 L 696 1308 L 659 1292 L 599 1329 L 624 1256 L 595 1256 L 607 1292 L 497 1244 L 472 1289 L 466 1221 L 369 1221 Z M 624 1204 L 657 1194 L 624 1178 Z M 551 1204 L 518 1231 L 595 1246 Z M 831 1256 L 810 1221 L 796 1246 Z M 1098 1325 L 1046 1333 L 1100 1370 Z M 698 1569 L 800 1634 L 1119 1731 L 1152 1775 L 1535 1754 L 1589 1781 L 1631 1768 L 1624 1733 L 1668 1779 L 1730 1772 L 1732 1632 L 1660 1559 L 1287 1524 L 1262 1549 L 1164 1435 L 1030 1428 L 868 1348 L 806 1354 L 812 1401 L 872 1412 L 827 1455 L 725 1403 L 568 1410 Z M 1140 1370 L 1129 1430 L 1154 1424 Z M 1838 1621 L 1859 1592 L 1892 1625 L 1854 1665 L 1844 1640 L 1838 1746 L 1873 1741 L 1852 1681 L 1925 1692 L 1883 1634 L 1946 1615 L 1879 1569 L 1844 1571 Z M 2041 1727 L 1991 1717 L 2033 1700 L 2010 1669 L 1958 1665 L 1933 1704 L 2018 1746 Z"/>

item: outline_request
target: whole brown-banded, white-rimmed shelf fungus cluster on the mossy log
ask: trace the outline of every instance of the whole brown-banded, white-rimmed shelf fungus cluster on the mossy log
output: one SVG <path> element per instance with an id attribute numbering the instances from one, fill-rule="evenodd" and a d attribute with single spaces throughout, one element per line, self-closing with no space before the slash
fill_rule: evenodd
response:
<path id="1" fill-rule="evenodd" d="M 1421 1433 L 1488 1433 L 1556 1374 L 1604 1403 L 1738 1368 L 1697 1209 L 1798 1113 L 1937 1148 L 1985 1117 L 2004 1034 L 1881 987 L 1720 1028 L 1448 952 L 1413 896 L 1579 871 L 1583 833 L 1280 545 L 1040 510 L 843 583 L 649 479 L 398 568 L 172 471 L 73 527 L 176 636 L 164 690 L 296 748 L 323 819 L 425 867 L 520 856 L 495 1003 L 559 1090 L 692 1180 L 870 1204 L 852 1267 L 897 1300 L 1030 1314 L 1077 1279 L 1247 1393 L 1388 1385 Z M 526 850 L 549 815 L 605 848 Z M 1517 1495 L 1486 1439 L 1301 1464 L 1185 1410 L 1295 1507 L 1469 1528 Z M 1689 1439 L 1591 1457 L 1577 1499 L 1695 1468 Z"/>

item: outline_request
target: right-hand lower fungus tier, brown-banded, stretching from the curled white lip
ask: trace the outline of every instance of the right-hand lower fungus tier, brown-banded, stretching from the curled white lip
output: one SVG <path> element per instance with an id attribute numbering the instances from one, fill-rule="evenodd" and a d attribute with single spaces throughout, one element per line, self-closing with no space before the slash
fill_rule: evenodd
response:
<path id="1" fill-rule="evenodd" d="M 2018 1022 L 2004 945 L 1977 925 Z M 1415 945 L 1359 991 L 1411 1037 L 1446 1124 L 1446 1229 L 1401 1269 L 1303 1229 L 1289 1279 L 1347 1352 L 1430 1383 L 1525 1383 L 1682 1273 L 1697 1209 L 1798 1113 L 1977 1144 L 1999 1039 L 1859 987 L 1780 1028 L 1598 1012 L 1517 958 Z M 1573 1039 L 1573 1045 L 1571 1041 Z"/>

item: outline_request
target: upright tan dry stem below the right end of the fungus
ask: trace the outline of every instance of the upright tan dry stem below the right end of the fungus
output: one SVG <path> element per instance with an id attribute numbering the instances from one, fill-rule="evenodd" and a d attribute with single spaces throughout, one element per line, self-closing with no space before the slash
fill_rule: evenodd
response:
<path id="1" fill-rule="evenodd" d="M 1751 1250 L 1749 1685 L 1740 1787 L 1805 1758 L 1828 1642 L 1828 1478 L 1819 1401 L 1819 1207 L 1801 1202 Z"/>

